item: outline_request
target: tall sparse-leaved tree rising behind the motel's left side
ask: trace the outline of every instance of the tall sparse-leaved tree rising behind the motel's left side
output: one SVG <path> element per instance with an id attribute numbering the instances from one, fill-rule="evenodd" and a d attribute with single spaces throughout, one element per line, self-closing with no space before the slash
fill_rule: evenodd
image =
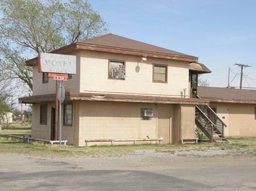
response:
<path id="1" fill-rule="evenodd" d="M 1 0 L 0 11 L 0 80 L 22 82 L 31 91 L 25 60 L 108 31 L 86 0 Z"/>

